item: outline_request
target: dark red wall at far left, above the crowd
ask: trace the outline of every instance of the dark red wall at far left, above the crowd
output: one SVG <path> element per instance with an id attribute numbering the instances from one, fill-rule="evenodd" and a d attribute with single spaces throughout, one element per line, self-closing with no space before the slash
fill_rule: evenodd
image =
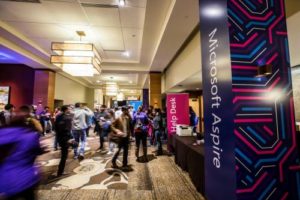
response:
<path id="1" fill-rule="evenodd" d="M 10 103 L 16 107 L 32 104 L 34 69 L 21 64 L 0 64 L 0 85 L 10 86 Z"/>

